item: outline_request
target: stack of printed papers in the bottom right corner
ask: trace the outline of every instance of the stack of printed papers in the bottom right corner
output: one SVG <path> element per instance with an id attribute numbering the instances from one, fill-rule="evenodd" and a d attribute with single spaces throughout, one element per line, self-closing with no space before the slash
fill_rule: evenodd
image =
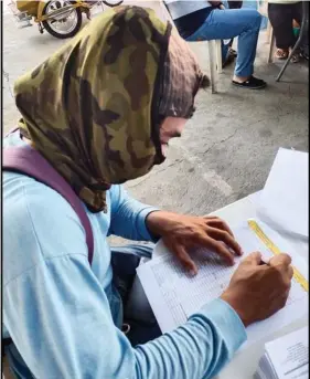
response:
<path id="1" fill-rule="evenodd" d="M 308 379 L 308 327 L 265 345 L 255 379 Z"/>

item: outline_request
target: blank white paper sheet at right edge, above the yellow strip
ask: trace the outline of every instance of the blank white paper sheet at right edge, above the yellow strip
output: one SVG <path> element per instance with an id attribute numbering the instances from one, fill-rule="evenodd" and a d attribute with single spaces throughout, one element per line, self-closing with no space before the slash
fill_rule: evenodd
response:
<path id="1" fill-rule="evenodd" d="M 309 238 L 308 152 L 280 148 L 265 188 L 257 214 L 276 230 Z"/>

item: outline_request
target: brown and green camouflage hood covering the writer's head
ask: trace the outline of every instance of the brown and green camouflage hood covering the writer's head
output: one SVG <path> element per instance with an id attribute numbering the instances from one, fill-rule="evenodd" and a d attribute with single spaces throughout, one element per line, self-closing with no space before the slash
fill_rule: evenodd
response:
<path id="1" fill-rule="evenodd" d="M 157 106 L 170 34 L 152 10 L 119 7 L 15 83 L 22 135 L 93 212 L 106 211 L 111 183 L 162 161 Z"/>

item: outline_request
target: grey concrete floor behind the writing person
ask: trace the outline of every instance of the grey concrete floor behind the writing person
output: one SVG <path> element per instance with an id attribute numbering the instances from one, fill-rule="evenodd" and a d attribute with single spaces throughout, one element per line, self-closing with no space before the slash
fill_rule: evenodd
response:
<path id="1" fill-rule="evenodd" d="M 154 2 L 148 4 L 158 9 Z M 9 14 L 4 14 L 3 33 L 7 130 L 19 118 L 9 84 L 12 87 L 19 75 L 41 63 L 63 41 L 41 35 L 36 25 L 17 29 Z M 192 46 L 207 72 L 207 46 Z M 167 210 L 205 214 L 261 189 L 279 147 L 308 151 L 308 66 L 291 64 L 276 83 L 280 64 L 267 65 L 267 53 L 261 32 L 256 74 L 268 82 L 268 88 L 235 88 L 231 85 L 233 67 L 225 69 L 220 75 L 220 93 L 199 95 L 196 114 L 182 138 L 171 144 L 167 161 L 126 185 L 133 197 Z"/>

